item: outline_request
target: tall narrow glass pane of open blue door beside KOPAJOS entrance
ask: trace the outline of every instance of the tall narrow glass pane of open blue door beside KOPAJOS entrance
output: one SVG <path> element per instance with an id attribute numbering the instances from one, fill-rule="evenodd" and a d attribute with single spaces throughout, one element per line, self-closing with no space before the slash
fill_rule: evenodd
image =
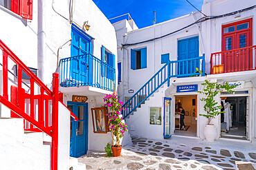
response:
<path id="1" fill-rule="evenodd" d="M 171 135 L 171 103 L 165 100 L 165 137 Z"/>

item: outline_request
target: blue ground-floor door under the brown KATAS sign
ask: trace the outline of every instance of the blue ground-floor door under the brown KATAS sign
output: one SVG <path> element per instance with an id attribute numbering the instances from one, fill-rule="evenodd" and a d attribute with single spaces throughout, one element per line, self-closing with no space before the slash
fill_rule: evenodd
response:
<path id="1" fill-rule="evenodd" d="M 68 102 L 68 109 L 79 119 L 71 118 L 70 131 L 70 156 L 77 158 L 86 154 L 88 149 L 88 105 Z"/>

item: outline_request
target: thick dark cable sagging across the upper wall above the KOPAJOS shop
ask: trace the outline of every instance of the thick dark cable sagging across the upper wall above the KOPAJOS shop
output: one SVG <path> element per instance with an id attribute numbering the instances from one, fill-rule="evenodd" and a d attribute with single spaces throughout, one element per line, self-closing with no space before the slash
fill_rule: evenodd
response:
<path id="1" fill-rule="evenodd" d="M 244 8 L 242 10 L 237 10 L 235 12 L 230 12 L 230 13 L 227 13 L 227 14 L 221 14 L 221 15 L 217 15 L 217 16 L 212 16 L 212 17 L 202 17 L 201 19 L 195 21 L 194 23 L 190 23 L 190 25 L 187 25 L 183 28 L 180 28 L 179 30 L 175 30 L 174 32 L 170 32 L 168 34 L 165 34 L 163 36 L 158 36 L 154 39 L 148 39 L 148 40 L 145 40 L 145 41 L 140 41 L 138 43 L 125 43 L 125 44 L 122 44 L 122 47 L 127 47 L 127 46 L 131 46 L 131 45 L 137 45 L 137 44 L 140 44 L 140 43 L 147 43 L 147 42 L 150 42 L 150 41 L 155 41 L 157 39 L 162 39 L 163 37 L 165 36 L 169 36 L 171 34 L 175 34 L 176 32 L 179 32 L 181 30 L 184 30 L 186 28 L 189 28 L 190 26 L 196 24 L 196 23 L 202 23 L 204 21 L 207 21 L 207 20 L 210 20 L 210 19 L 219 19 L 219 18 L 222 18 L 222 17 L 228 17 L 228 16 L 231 16 L 231 15 L 234 15 L 234 14 L 238 14 L 238 13 L 241 13 L 241 12 L 246 12 L 248 10 L 253 10 L 254 8 L 256 8 L 256 5 L 255 6 L 251 6 L 251 7 L 248 7 L 248 8 Z"/>

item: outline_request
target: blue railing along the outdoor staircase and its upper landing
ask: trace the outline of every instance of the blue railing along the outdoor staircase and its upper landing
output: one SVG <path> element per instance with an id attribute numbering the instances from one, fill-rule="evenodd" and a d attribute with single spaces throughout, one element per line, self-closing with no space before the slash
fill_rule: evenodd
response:
<path id="1" fill-rule="evenodd" d="M 202 72 L 196 72 L 196 67 Z M 152 78 L 143 85 L 127 102 L 122 105 L 125 109 L 122 111 L 123 118 L 127 118 L 135 109 L 149 98 L 157 89 L 167 82 L 170 86 L 170 78 L 185 76 L 205 76 L 205 55 L 179 61 L 169 61 Z"/>

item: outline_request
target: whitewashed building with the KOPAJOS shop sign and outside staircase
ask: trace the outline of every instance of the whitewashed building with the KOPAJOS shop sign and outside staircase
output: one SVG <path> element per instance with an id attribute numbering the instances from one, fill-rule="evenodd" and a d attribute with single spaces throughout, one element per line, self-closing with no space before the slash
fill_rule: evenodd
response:
<path id="1" fill-rule="evenodd" d="M 203 14 L 202 14 L 203 13 Z M 113 23 L 118 39 L 118 95 L 126 101 L 129 133 L 146 138 L 172 135 L 205 138 L 207 123 L 200 100 L 205 80 L 239 84 L 222 92 L 226 114 L 212 123 L 217 138 L 256 138 L 255 1 L 204 0 L 201 12 L 131 27 Z M 185 110 L 180 130 L 179 106 Z"/>

